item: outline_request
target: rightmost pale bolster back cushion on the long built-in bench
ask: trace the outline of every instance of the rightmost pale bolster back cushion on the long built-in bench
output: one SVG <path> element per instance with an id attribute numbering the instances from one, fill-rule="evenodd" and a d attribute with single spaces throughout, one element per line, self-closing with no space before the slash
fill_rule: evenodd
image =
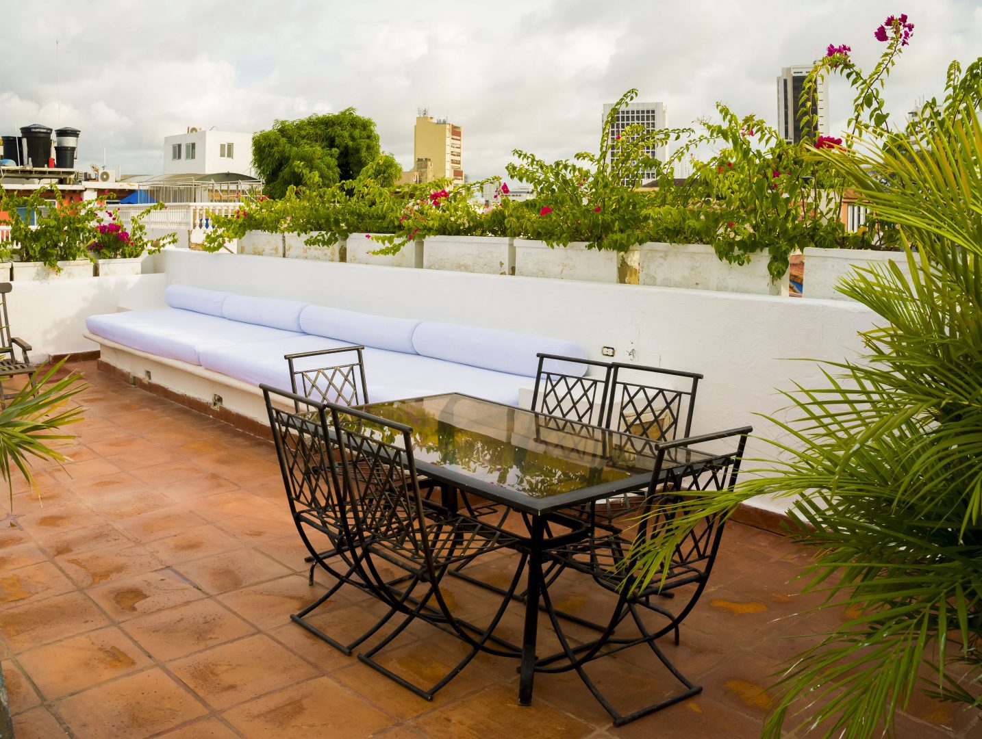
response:
<path id="1" fill-rule="evenodd" d="M 423 356 L 525 377 L 535 377 L 539 367 L 536 354 L 540 351 L 576 359 L 586 358 L 586 350 L 582 346 L 563 339 L 436 321 L 419 324 L 412 334 L 412 345 L 416 353 Z M 571 375 L 583 375 L 586 371 L 584 366 L 552 359 L 545 362 L 544 369 Z"/>

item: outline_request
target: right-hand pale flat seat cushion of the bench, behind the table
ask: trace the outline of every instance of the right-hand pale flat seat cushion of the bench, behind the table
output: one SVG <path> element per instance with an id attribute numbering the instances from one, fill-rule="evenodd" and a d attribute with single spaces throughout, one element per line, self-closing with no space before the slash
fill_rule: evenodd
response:
<path id="1" fill-rule="evenodd" d="M 201 366 L 249 385 L 265 383 L 291 387 L 285 354 L 350 345 L 317 336 L 301 336 L 271 342 L 222 343 L 201 349 Z M 350 359 L 354 359 L 352 355 Z M 365 347 L 365 381 L 372 401 L 440 393 L 464 393 L 490 400 L 518 404 L 518 390 L 529 386 L 522 375 L 470 367 L 401 351 Z M 348 357 L 306 357 L 297 360 L 299 369 L 311 369 L 349 361 Z M 328 398 L 333 399 L 333 398 Z"/>

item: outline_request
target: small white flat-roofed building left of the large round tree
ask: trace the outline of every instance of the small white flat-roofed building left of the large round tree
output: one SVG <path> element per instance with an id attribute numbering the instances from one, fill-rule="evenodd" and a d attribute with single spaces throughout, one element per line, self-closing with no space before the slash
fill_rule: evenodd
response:
<path id="1" fill-rule="evenodd" d="M 252 134 L 189 128 L 164 138 L 165 175 L 235 174 L 254 177 Z"/>

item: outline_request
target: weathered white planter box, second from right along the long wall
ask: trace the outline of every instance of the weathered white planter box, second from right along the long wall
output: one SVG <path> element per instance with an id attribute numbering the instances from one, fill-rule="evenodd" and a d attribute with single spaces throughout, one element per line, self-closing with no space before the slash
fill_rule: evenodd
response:
<path id="1" fill-rule="evenodd" d="M 771 280 L 767 253 L 751 254 L 748 264 L 737 265 L 722 261 L 705 243 L 645 243 L 639 249 L 641 285 L 788 295 L 788 273 Z"/>

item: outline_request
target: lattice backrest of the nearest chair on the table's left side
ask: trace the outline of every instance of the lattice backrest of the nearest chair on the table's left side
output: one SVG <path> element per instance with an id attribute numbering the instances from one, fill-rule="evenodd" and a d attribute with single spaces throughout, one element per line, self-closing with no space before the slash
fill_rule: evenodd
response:
<path id="1" fill-rule="evenodd" d="M 345 458 L 344 490 L 361 547 L 374 547 L 432 569 L 426 516 L 419 492 L 409 426 L 330 403 L 338 448 Z M 392 594 L 371 569 L 383 598 Z"/>

